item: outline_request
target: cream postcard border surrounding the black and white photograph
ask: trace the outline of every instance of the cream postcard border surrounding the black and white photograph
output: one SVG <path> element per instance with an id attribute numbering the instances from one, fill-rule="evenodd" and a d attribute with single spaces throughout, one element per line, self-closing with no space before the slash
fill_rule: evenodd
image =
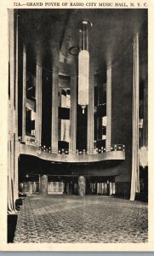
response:
<path id="1" fill-rule="evenodd" d="M 75 0 L 75 1 L 38 1 L 43 3 L 43 6 L 15 6 L 14 3 L 34 3 L 35 1 L 13 1 L 13 0 L 0 0 L 0 250 L 2 251 L 70 251 L 70 252 L 147 252 L 154 251 L 154 129 L 152 129 L 154 120 L 154 1 L 153 0 L 111 0 L 111 1 L 96 1 L 96 0 Z M 35 3 L 38 3 L 35 2 Z M 130 3 L 134 3 L 131 8 L 148 8 L 148 50 L 149 50 L 149 241 L 147 243 L 94 243 L 94 244 L 7 244 L 7 136 L 8 136 L 8 10 L 7 9 L 47 9 L 44 3 L 60 3 L 60 9 L 77 9 L 77 8 L 90 8 L 98 9 L 98 6 L 87 7 L 86 3 L 113 3 L 111 7 L 103 7 L 103 9 L 119 9 L 115 7 L 114 3 L 127 3 L 128 7 L 121 7 L 121 9 L 130 9 Z M 66 4 L 66 7 L 63 4 Z M 84 3 L 84 7 L 71 7 L 70 3 Z M 140 7 L 138 4 L 140 3 Z M 145 3 L 145 6 L 144 6 Z M 49 7 L 50 9 L 51 7 Z M 52 7 L 57 9 L 57 6 Z M 102 9 L 102 7 L 100 8 Z"/>

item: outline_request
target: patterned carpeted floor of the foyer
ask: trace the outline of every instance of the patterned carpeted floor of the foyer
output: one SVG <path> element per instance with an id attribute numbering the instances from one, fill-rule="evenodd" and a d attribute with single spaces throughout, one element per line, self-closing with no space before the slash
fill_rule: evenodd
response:
<path id="1" fill-rule="evenodd" d="M 28 195 L 14 243 L 147 242 L 147 204 L 101 195 Z"/>

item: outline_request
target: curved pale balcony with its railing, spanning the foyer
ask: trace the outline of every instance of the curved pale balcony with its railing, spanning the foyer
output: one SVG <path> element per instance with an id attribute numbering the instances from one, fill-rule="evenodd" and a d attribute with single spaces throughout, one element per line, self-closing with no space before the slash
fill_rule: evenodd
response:
<path id="1" fill-rule="evenodd" d="M 90 163 L 104 160 L 125 160 L 125 146 L 123 144 L 112 145 L 107 148 L 94 148 L 86 151 L 76 150 L 71 152 L 66 148 L 46 148 L 39 145 L 36 140 L 28 138 L 22 141 L 20 138 L 20 154 L 30 154 L 43 160 L 71 163 Z"/>

